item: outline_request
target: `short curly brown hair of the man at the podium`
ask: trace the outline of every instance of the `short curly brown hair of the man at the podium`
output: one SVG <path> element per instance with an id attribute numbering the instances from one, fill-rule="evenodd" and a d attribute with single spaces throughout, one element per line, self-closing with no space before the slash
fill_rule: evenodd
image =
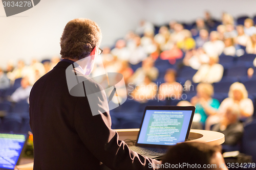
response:
<path id="1" fill-rule="evenodd" d="M 61 58 L 83 59 L 101 41 L 101 31 L 91 19 L 78 18 L 69 21 L 60 38 Z"/>

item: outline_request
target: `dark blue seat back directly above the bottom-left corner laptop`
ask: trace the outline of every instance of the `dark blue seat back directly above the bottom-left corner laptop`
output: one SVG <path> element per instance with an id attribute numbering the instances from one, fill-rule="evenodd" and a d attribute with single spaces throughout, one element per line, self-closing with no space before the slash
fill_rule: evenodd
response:
<path id="1" fill-rule="evenodd" d="M 3 132 L 20 132 L 22 126 L 22 117 L 18 114 L 9 114 L 4 117 L 1 125 L 1 131 Z"/>

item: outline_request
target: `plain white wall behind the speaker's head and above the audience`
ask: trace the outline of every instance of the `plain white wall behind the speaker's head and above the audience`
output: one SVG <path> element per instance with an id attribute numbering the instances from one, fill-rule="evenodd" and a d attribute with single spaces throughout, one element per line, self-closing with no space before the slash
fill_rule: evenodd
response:
<path id="1" fill-rule="evenodd" d="M 104 46 L 134 30 L 141 19 L 156 25 L 173 19 L 191 21 L 203 17 L 205 10 L 216 18 L 224 11 L 235 17 L 253 16 L 255 7 L 254 0 L 41 0 L 28 11 L 6 17 L 0 4 L 0 67 L 5 68 L 9 60 L 23 59 L 29 64 L 32 58 L 59 55 L 63 28 L 73 18 L 96 21 Z"/>

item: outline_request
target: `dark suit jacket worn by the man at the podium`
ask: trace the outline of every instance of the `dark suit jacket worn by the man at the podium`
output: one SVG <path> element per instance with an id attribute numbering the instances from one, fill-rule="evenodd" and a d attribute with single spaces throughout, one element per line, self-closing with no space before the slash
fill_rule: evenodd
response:
<path id="1" fill-rule="evenodd" d="M 139 170 L 159 164 L 118 140 L 109 111 L 93 116 L 87 96 L 70 95 L 65 74 L 70 64 L 60 61 L 31 90 L 34 169 L 100 169 L 102 162 L 111 169 Z"/>

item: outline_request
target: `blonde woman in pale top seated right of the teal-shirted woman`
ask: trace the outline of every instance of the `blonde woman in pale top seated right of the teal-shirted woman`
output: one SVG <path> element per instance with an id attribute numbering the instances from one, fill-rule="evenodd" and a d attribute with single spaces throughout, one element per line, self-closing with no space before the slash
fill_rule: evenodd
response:
<path id="1" fill-rule="evenodd" d="M 242 83 L 233 83 L 228 92 L 228 98 L 224 99 L 215 115 L 207 118 L 205 129 L 209 130 L 211 125 L 220 123 L 229 107 L 237 105 L 239 108 L 239 118 L 244 120 L 253 114 L 253 103 L 248 98 L 248 92 Z"/>

